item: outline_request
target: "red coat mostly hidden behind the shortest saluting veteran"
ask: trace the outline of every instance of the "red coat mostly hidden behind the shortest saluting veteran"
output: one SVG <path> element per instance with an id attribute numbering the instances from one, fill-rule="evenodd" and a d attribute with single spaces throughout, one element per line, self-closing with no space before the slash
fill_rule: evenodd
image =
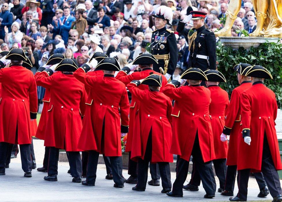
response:
<path id="1" fill-rule="evenodd" d="M 158 74 L 158 75 L 162 75 L 158 72 L 153 71 L 151 68 L 142 70 L 141 72 L 133 72 L 132 74 L 127 75 L 127 73 L 125 73 L 124 71 L 120 71 L 118 72 L 118 74 L 116 75 L 116 79 L 118 79 L 119 81 L 123 82 L 125 85 L 129 84 L 131 81 L 133 80 L 140 80 L 143 78 L 146 78 L 147 76 L 150 75 L 150 73 L 153 72 L 153 74 Z M 162 87 L 160 89 L 160 92 L 162 92 L 162 88 L 167 84 L 167 80 L 166 77 L 164 77 L 162 75 Z M 139 89 L 141 90 L 145 90 L 145 89 L 149 89 L 148 85 L 143 85 L 141 84 L 140 86 L 138 86 Z M 130 103 L 130 110 L 129 110 L 129 128 L 128 128 L 128 134 L 127 134 L 127 141 L 126 141 L 126 147 L 125 147 L 125 151 L 126 152 L 130 152 L 131 151 L 131 145 L 132 145 L 132 138 L 133 138 L 133 130 L 134 130 L 134 123 L 135 123 L 135 119 L 136 116 L 138 114 L 138 109 L 139 109 L 139 100 L 136 99 L 133 95 L 131 97 L 131 103 Z M 135 143 L 133 143 L 135 144 Z"/>

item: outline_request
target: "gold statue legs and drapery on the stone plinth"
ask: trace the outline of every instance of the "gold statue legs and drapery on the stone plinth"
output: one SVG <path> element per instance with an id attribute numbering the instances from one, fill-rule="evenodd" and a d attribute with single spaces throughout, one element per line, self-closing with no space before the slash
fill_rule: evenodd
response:
<path id="1" fill-rule="evenodd" d="M 252 0 L 257 28 L 250 36 L 282 38 L 282 0 Z M 225 27 L 215 32 L 216 36 L 231 36 L 234 24 L 241 7 L 241 0 L 231 0 L 226 12 Z"/>

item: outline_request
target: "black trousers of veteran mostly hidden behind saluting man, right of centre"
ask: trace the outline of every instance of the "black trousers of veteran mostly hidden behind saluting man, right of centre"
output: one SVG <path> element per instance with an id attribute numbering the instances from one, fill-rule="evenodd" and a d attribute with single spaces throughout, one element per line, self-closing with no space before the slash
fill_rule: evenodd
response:
<path id="1" fill-rule="evenodd" d="M 214 163 L 214 170 L 216 172 L 216 176 L 219 179 L 219 187 L 223 189 L 225 186 L 225 176 L 227 172 L 226 158 L 214 159 L 212 162 Z M 196 186 L 200 186 L 201 184 L 201 178 L 198 171 L 195 170 L 194 162 L 192 166 L 192 175 L 189 183 Z"/>

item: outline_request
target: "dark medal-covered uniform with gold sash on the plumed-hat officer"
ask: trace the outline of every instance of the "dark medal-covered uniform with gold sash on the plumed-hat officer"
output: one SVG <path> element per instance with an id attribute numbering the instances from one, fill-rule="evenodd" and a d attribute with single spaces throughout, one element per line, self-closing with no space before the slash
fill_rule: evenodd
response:
<path id="1" fill-rule="evenodd" d="M 176 38 L 173 31 L 163 27 L 153 31 L 151 41 L 151 54 L 155 56 L 158 64 L 153 64 L 153 70 L 159 73 L 160 67 L 165 69 L 170 75 L 174 73 L 178 60 L 178 50 L 176 45 Z"/>

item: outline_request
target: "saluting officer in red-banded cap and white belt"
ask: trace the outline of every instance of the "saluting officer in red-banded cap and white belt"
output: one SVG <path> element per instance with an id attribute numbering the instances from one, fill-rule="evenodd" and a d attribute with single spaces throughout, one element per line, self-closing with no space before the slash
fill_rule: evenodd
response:
<path id="1" fill-rule="evenodd" d="M 188 68 L 195 67 L 202 71 L 216 69 L 216 38 L 212 31 L 204 26 L 207 13 L 191 11 L 191 14 L 180 20 L 177 32 L 189 39 Z M 193 20 L 193 28 L 185 28 L 185 24 Z"/>

